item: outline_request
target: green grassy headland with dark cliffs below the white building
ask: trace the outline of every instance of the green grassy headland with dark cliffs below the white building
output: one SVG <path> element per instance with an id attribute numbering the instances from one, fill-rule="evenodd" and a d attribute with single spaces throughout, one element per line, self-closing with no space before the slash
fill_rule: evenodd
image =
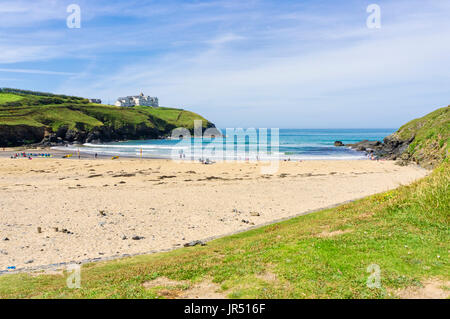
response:
<path id="1" fill-rule="evenodd" d="M 182 109 L 116 107 L 67 95 L 0 89 L 0 146 L 158 138 L 176 127 L 214 126 Z"/>

